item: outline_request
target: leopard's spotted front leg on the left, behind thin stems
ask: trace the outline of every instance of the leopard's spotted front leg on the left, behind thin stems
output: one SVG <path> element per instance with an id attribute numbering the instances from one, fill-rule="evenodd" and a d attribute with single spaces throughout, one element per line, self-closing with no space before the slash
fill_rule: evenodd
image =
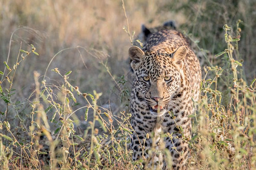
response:
<path id="1" fill-rule="evenodd" d="M 146 168 L 162 169 L 163 168 L 163 143 L 160 135 L 163 133 L 162 125 L 159 123 L 158 117 L 151 117 L 149 121 L 143 119 L 140 121 L 133 119 L 134 128 L 133 140 L 131 148 L 133 149 L 133 160 L 143 159 Z M 162 141 L 162 142 L 161 142 Z M 163 146 L 164 147 L 164 146 Z M 150 151 L 150 154 L 148 152 Z"/>

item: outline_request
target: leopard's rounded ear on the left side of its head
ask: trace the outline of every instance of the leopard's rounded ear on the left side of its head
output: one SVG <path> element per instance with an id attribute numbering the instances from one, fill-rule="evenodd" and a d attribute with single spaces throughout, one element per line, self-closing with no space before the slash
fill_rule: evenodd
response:
<path id="1" fill-rule="evenodd" d="M 133 70 L 136 70 L 141 64 L 144 55 L 145 53 L 138 46 L 131 46 L 129 48 L 129 57 L 131 58 L 131 68 Z"/>

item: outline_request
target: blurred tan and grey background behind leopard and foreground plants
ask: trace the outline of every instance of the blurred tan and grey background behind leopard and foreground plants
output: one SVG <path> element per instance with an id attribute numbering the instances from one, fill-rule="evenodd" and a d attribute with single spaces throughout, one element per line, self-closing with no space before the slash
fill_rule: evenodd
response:
<path id="1" fill-rule="evenodd" d="M 138 36 L 142 24 L 152 28 L 174 20 L 177 29 L 191 39 L 202 66 L 209 65 L 202 57 L 207 56 L 212 65 L 228 67 L 214 55 L 226 49 L 224 24 L 234 28 L 236 37 L 236 23 L 241 19 L 241 55 L 235 58 L 243 63 L 246 80 L 255 78 L 256 1 L 124 2 L 132 39 Z M 34 71 L 40 74 L 40 80 L 46 74 L 47 83 L 61 84 L 63 79 L 51 71 L 54 68 L 61 74 L 72 70 L 69 80 L 81 92 L 102 92 L 100 105 L 117 106 L 121 96 L 129 99 L 127 50 L 131 42 L 122 1 L 1 0 L 0 11 L 0 70 L 4 70 L 9 50 L 8 65 L 14 65 L 21 43 L 23 50 L 31 50 L 33 44 L 39 54 L 20 63 L 14 79 L 14 100 L 22 103 L 33 98 L 30 95 L 35 90 Z M 4 89 L 9 85 L 5 82 L 1 86 Z M 5 103 L 0 103 L 0 108 L 1 105 Z"/>

